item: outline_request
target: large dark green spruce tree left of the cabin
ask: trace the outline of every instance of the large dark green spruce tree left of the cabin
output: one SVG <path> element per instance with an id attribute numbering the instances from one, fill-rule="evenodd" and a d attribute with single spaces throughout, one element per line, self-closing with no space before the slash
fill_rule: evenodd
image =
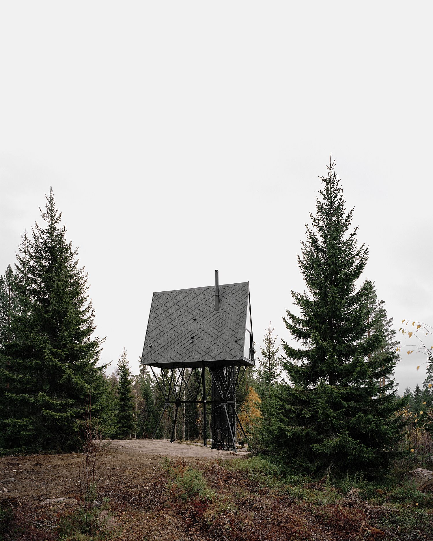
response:
<path id="1" fill-rule="evenodd" d="M 41 209 L 42 225 L 24 234 L 17 253 L 11 337 L 1 344 L 0 447 L 67 450 L 91 397 L 97 408 L 102 341 L 93 338 L 88 275 L 66 240 L 53 191 Z M 5 405 L 6 406 L 5 406 Z"/>

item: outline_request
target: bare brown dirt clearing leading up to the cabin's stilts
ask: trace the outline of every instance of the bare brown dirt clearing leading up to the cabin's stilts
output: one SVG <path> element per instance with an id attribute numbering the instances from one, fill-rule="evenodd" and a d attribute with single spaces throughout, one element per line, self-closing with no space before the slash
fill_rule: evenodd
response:
<path id="1" fill-rule="evenodd" d="M 111 538 L 156 541 L 178 538 L 174 533 L 177 528 L 173 526 L 169 513 L 153 509 L 146 500 L 149 485 L 165 457 L 196 465 L 245 454 L 245 450 L 236 455 L 201 444 L 178 444 L 169 440 L 111 440 L 102 458 L 97 479 L 97 497 L 110 500 L 108 529 L 111 530 Z M 0 539 L 57 539 L 55 525 L 62 517 L 68 516 L 68 511 L 73 511 L 77 504 L 42 502 L 51 498 L 80 500 L 81 463 L 82 457 L 78 453 L 0 457 L 0 492 L 5 494 L 7 491 L 18 511 L 15 529 L 5 533 L 0 531 Z M 193 536 L 191 539 L 200 537 Z"/>

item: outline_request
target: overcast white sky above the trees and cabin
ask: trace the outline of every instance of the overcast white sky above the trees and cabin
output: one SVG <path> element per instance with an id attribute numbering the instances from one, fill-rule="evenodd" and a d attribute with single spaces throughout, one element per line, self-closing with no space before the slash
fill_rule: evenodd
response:
<path id="1" fill-rule="evenodd" d="M 1 2 L 0 273 L 53 186 L 102 361 L 153 291 L 250 281 L 254 338 L 304 291 L 332 153 L 397 330 L 433 325 L 428 2 Z M 406 355 L 401 391 L 425 378 Z M 430 344 L 429 344 L 430 345 Z M 421 364 L 419 371 L 416 366 Z"/>

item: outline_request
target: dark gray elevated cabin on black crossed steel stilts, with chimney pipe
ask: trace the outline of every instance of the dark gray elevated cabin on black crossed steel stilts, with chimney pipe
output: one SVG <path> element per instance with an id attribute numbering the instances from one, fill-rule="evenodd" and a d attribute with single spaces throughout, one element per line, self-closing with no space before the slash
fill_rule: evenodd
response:
<path id="1" fill-rule="evenodd" d="M 165 387 L 155 375 L 165 398 L 160 421 L 166 408 L 173 404 L 172 440 L 180 405 L 195 401 L 204 405 L 206 445 L 206 404 L 211 402 L 212 447 L 235 450 L 237 425 L 240 425 L 235 407 L 236 388 L 240 373 L 247 366 L 254 366 L 249 283 L 219 285 L 215 271 L 214 286 L 155 292 L 141 364 L 150 366 L 154 375 L 153 368 L 161 369 Z M 212 381 L 208 393 L 206 369 Z M 195 397 L 188 388 L 191 378 L 199 384 Z M 241 425 L 239 429 L 245 434 Z"/>

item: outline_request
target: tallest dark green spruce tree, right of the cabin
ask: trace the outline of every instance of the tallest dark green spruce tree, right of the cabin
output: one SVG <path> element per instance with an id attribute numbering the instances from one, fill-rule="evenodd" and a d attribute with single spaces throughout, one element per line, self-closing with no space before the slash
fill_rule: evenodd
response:
<path id="1" fill-rule="evenodd" d="M 356 284 L 368 258 L 350 230 L 334 162 L 320 177 L 312 225 L 306 226 L 298 265 L 309 292 L 292 291 L 300 315 L 286 311 L 285 326 L 300 348 L 283 340 L 283 367 L 291 384 L 272 394 L 274 415 L 266 445 L 292 467 L 329 476 L 363 471 L 382 474 L 398 456 L 406 399 L 395 400 L 392 352 L 373 353 L 382 344 L 375 331 L 369 288 Z M 368 334 L 370 333 L 370 337 Z"/>

